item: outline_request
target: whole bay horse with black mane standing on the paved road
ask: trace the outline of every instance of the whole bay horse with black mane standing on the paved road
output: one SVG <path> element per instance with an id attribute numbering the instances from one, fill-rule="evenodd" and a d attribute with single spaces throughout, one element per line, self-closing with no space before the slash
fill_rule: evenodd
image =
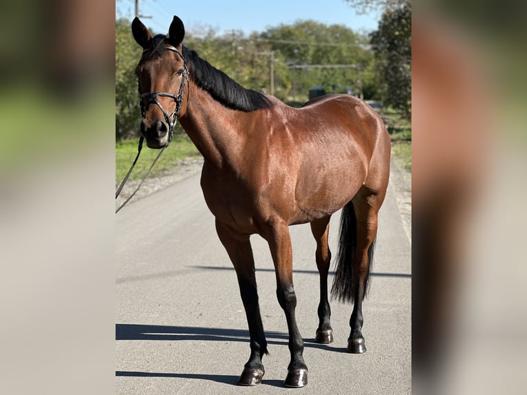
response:
<path id="1" fill-rule="evenodd" d="M 376 111 L 348 95 L 315 98 L 297 109 L 244 89 L 182 45 L 185 31 L 178 17 L 168 35 L 151 36 L 138 18 L 131 28 L 143 49 L 136 74 L 140 129 L 148 147 L 169 145 L 179 120 L 204 157 L 202 191 L 235 268 L 249 327 L 250 357 L 238 383 L 261 383 L 261 359 L 268 352 L 250 235 L 268 242 L 275 266 L 291 356 L 284 384 L 303 387 L 308 367 L 295 318 L 289 226 L 311 225 L 321 286 L 315 341 L 331 343 L 327 237 L 330 217 L 339 209 L 343 211 L 332 295 L 354 302 L 347 352 L 365 352 L 362 303 L 391 147 Z"/>

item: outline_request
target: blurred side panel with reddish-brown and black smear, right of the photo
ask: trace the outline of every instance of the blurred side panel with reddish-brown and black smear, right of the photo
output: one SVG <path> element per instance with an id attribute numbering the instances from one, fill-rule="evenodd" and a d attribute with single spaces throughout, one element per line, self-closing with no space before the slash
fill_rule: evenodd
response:
<path id="1" fill-rule="evenodd" d="M 526 4 L 414 2 L 413 389 L 523 393 Z"/>

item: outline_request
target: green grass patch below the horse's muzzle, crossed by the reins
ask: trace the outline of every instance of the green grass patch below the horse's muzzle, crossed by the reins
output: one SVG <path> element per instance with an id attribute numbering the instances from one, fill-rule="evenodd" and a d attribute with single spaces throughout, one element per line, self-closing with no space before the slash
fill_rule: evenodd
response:
<path id="1" fill-rule="evenodd" d="M 139 138 L 116 142 L 116 184 L 120 183 L 127 171 L 130 169 L 133 160 L 136 158 Z M 134 167 L 129 180 L 138 180 L 144 176 L 152 164 L 155 156 L 159 153 L 158 149 L 150 149 L 146 142 L 143 143 L 141 155 L 139 156 L 136 167 Z M 158 162 L 152 169 L 149 177 L 162 175 L 177 166 L 178 161 L 187 158 L 198 158 L 201 154 L 189 138 L 189 136 L 174 136 L 169 147 L 166 147 L 161 154 Z"/>

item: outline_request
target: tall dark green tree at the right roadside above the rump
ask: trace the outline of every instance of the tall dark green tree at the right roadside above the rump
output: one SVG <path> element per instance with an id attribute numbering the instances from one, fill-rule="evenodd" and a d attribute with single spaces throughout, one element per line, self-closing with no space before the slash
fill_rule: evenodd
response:
<path id="1" fill-rule="evenodd" d="M 387 8 L 371 34 L 380 95 L 385 105 L 411 118 L 411 5 Z"/>

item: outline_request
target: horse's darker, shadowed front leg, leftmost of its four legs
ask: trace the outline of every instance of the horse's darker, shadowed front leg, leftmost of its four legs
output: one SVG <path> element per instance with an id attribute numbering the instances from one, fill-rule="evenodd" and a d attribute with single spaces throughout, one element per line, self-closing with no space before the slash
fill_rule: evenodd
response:
<path id="1" fill-rule="evenodd" d="M 255 260 L 249 235 L 241 235 L 232 228 L 216 221 L 219 240 L 224 245 L 236 270 L 241 301 L 244 303 L 250 336 L 250 357 L 238 379 L 240 385 L 258 385 L 264 377 L 261 358 L 267 354 L 264 325 L 261 322 L 255 277 Z"/>

